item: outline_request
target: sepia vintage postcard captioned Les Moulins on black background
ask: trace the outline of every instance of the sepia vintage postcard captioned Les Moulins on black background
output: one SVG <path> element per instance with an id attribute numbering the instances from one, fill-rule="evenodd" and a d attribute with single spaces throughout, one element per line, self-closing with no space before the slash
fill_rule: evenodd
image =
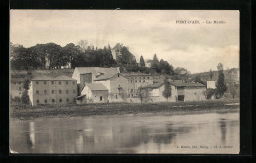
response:
<path id="1" fill-rule="evenodd" d="M 239 154 L 238 10 L 10 10 L 11 154 Z"/>

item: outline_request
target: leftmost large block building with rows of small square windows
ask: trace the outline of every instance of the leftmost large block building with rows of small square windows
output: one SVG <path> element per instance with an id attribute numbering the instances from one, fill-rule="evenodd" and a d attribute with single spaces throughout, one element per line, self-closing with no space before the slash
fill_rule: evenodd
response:
<path id="1" fill-rule="evenodd" d="M 28 95 L 32 106 L 74 103 L 77 81 L 68 76 L 38 76 L 31 80 Z"/>

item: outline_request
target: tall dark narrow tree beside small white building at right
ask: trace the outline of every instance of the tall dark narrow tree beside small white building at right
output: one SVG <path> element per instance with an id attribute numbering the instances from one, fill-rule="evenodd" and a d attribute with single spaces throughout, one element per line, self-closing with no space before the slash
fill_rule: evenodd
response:
<path id="1" fill-rule="evenodd" d="M 217 95 L 223 97 L 224 92 L 227 90 L 226 83 L 224 80 L 223 64 L 219 63 L 217 66 L 218 69 L 218 80 L 216 83 Z"/>

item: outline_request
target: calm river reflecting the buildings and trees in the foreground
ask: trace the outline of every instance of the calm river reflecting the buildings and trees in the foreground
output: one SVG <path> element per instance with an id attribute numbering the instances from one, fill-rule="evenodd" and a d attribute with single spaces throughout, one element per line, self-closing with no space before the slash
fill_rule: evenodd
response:
<path id="1" fill-rule="evenodd" d="M 18 153 L 238 153 L 239 113 L 11 119 Z"/>

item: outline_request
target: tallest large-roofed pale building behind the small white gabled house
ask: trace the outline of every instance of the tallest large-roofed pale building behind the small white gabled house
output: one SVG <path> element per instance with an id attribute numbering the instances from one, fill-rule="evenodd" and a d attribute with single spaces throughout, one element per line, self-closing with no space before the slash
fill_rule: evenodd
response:
<path id="1" fill-rule="evenodd" d="M 92 84 L 96 79 L 108 78 L 117 73 L 120 73 L 119 67 L 76 67 L 72 78 L 77 80 L 78 95 L 80 96 L 86 84 Z"/>

